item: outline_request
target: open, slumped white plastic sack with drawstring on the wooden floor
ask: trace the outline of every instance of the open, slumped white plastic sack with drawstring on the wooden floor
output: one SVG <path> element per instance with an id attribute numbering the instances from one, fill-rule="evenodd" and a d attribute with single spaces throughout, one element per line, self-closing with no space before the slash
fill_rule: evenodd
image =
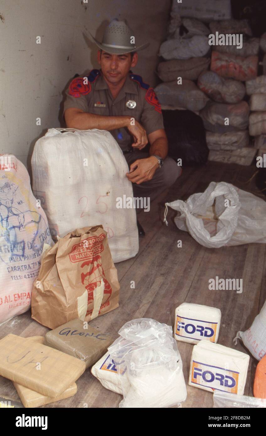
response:
<path id="1" fill-rule="evenodd" d="M 180 212 L 177 227 L 204 247 L 266 243 L 266 202 L 232 184 L 211 182 L 205 192 L 165 205 Z"/>

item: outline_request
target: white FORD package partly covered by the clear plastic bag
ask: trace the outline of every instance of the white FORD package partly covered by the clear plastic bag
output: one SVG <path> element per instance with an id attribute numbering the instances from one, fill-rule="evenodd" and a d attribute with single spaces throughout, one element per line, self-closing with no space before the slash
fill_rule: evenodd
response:
<path id="1" fill-rule="evenodd" d="M 98 378 L 104 388 L 123 395 L 121 378 L 127 379 L 126 366 L 119 373 L 109 351 L 93 365 L 92 375 Z M 127 380 L 125 380 L 125 384 L 126 382 Z"/>

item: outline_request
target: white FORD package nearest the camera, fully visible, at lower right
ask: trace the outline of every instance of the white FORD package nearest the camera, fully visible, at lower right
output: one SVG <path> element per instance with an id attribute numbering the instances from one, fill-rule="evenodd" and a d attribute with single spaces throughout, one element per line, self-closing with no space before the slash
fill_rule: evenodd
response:
<path id="1" fill-rule="evenodd" d="M 243 395 L 248 367 L 248 354 L 201 341 L 193 347 L 188 384 L 205 391 Z"/>

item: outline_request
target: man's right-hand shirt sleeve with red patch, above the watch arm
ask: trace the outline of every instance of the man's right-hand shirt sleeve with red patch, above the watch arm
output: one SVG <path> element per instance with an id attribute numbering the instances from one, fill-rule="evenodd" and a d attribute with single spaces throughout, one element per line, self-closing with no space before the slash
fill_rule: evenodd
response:
<path id="1" fill-rule="evenodd" d="M 145 95 L 141 125 L 146 130 L 147 135 L 156 130 L 164 129 L 162 109 L 153 88 L 149 88 Z"/>

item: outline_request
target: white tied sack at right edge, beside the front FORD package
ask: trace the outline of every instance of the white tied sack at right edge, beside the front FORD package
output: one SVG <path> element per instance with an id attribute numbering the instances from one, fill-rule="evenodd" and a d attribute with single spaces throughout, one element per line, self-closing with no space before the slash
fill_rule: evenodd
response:
<path id="1" fill-rule="evenodd" d="M 235 344 L 238 339 L 242 339 L 245 347 L 257 360 L 261 360 L 266 355 L 266 301 L 251 327 L 237 333 Z"/>

